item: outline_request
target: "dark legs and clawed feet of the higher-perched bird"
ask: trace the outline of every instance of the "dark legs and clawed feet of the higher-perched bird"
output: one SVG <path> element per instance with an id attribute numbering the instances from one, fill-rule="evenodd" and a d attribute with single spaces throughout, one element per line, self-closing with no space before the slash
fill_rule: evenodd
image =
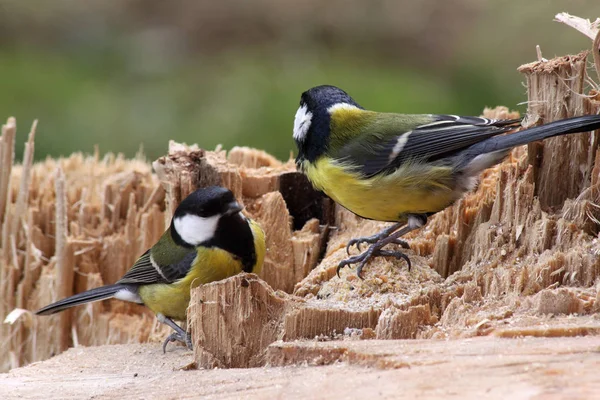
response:
<path id="1" fill-rule="evenodd" d="M 356 274 L 358 275 L 359 278 L 362 279 L 362 276 L 361 276 L 362 270 L 363 270 L 364 266 L 367 264 L 367 262 L 373 257 L 380 257 L 380 256 L 396 257 L 398 259 L 401 258 L 406 261 L 406 263 L 408 264 L 408 269 L 410 270 L 411 262 L 410 262 L 410 258 L 408 258 L 408 256 L 406 254 L 404 254 L 401 251 L 382 250 L 382 247 L 384 247 L 390 243 L 398 243 L 399 241 L 404 242 L 403 240 L 399 239 L 399 237 L 404 236 L 408 232 L 411 232 L 415 229 L 422 227 L 426 223 L 427 223 L 426 215 L 411 214 L 408 217 L 407 224 L 402 229 L 395 231 L 396 229 L 398 229 L 399 224 L 394 224 L 393 226 L 391 226 L 387 229 L 384 229 L 383 231 L 381 231 L 380 233 L 378 233 L 376 235 L 367 237 L 367 239 L 369 239 L 369 240 L 377 238 L 377 237 L 379 237 L 379 239 L 377 239 L 373 244 L 371 244 L 371 246 L 369 246 L 369 248 L 366 251 L 364 251 L 363 253 L 361 253 L 357 256 L 353 256 L 353 257 L 347 258 L 345 260 L 342 260 L 338 264 L 337 275 L 340 276 L 340 269 L 344 268 L 346 265 L 358 263 L 358 268 L 356 269 Z M 362 240 L 362 238 L 358 238 L 356 240 Z M 371 242 L 367 242 L 367 243 L 371 243 Z M 404 242 L 404 243 L 406 243 L 406 242 Z M 402 246 L 402 243 L 399 243 L 399 244 Z M 406 244 L 408 245 L 408 243 L 406 243 Z M 406 248 L 405 246 L 402 246 L 402 247 Z"/>

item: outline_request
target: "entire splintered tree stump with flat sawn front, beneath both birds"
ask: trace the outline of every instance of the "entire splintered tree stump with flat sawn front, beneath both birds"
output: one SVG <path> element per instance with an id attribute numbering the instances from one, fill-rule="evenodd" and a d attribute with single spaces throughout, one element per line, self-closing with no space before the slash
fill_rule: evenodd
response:
<path id="1" fill-rule="evenodd" d="M 579 55 L 521 69 L 527 125 L 598 112 L 600 102 L 580 93 L 584 66 Z M 564 87 L 555 87 L 556 77 Z M 502 107 L 484 115 L 516 116 Z M 1 376 L 0 399 L 600 393 L 600 339 L 575 337 L 600 332 L 598 132 L 515 149 L 482 173 L 476 190 L 407 235 L 410 271 L 402 260 L 378 258 L 360 280 L 351 268 L 336 275 L 346 243 L 386 224 L 332 206 L 291 160 L 171 143 L 155 173 L 145 160 L 98 154 L 31 164 L 32 134 L 25 165 L 13 166 L 14 122 L 0 139 L 0 320 L 15 307 L 34 310 L 116 281 L 198 186 L 229 187 L 263 226 L 268 251 L 259 278 L 194 290 L 195 355 L 165 356 L 156 343 L 78 347 Z M 78 343 L 161 341 L 167 331 L 141 307 L 118 301 L 52 318 L 25 312 L 0 326 L 0 370 Z M 357 340 L 368 338 L 416 340 Z M 271 345 L 280 339 L 313 342 Z M 178 370 L 192 360 L 270 367 Z"/>

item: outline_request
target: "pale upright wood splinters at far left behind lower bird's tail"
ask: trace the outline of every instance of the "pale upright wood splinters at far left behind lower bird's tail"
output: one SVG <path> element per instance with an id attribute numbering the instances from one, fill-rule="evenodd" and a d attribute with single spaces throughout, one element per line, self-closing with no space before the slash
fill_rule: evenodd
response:
<path id="1" fill-rule="evenodd" d="M 0 160 L 2 320 L 13 309 L 33 311 L 114 282 L 164 229 L 164 193 L 155 194 L 158 179 L 144 160 L 74 154 L 33 164 L 34 124 L 23 165 L 13 166 L 15 134 L 11 118 L 3 127 Z M 12 325 L 0 325 L 0 370 L 48 358 L 74 343 L 148 338 L 152 319 L 133 316 L 140 329 L 130 330 L 114 317 L 102 304 L 53 317 L 20 313 Z"/>

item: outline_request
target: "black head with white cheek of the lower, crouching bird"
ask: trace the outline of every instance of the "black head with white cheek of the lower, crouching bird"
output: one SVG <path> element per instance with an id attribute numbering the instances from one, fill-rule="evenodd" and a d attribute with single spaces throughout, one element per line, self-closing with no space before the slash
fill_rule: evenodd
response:
<path id="1" fill-rule="evenodd" d="M 242 218 L 240 211 L 242 206 L 229 189 L 220 186 L 197 189 L 175 210 L 171 235 L 181 245 L 198 246 L 214 237 L 221 221 Z"/>

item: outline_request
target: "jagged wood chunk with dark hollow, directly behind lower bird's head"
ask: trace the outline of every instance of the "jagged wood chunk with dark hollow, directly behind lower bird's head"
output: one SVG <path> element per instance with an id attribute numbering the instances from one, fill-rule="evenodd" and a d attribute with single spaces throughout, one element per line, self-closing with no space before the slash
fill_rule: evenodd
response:
<path id="1" fill-rule="evenodd" d="M 168 220 L 181 199 L 197 187 L 220 185 L 234 193 L 265 231 L 267 254 L 261 277 L 274 289 L 291 292 L 317 264 L 332 222 L 332 213 L 326 211 L 333 205 L 309 187 L 292 161 L 282 163 L 247 147 L 210 152 L 171 142 L 168 155 L 153 166 L 167 192 Z M 292 193 L 290 186 L 304 191 Z M 316 211 L 307 215 L 306 210 Z"/>

